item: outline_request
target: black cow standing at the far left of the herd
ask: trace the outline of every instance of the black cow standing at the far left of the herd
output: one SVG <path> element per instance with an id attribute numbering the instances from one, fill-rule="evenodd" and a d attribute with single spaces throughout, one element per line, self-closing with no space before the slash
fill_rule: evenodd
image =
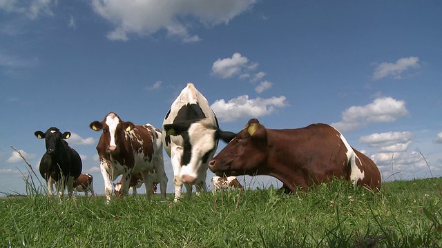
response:
<path id="1" fill-rule="evenodd" d="M 79 154 L 65 141 L 70 137 L 70 132 L 61 133 L 57 127 L 50 127 L 46 132 L 36 131 L 34 134 L 39 139 L 44 138 L 46 143 L 46 153 L 41 158 L 39 171 L 48 185 L 48 194 L 54 194 L 52 184 L 55 183 L 59 197 L 64 195 L 67 186 L 70 198 L 74 180 L 83 168 Z"/>

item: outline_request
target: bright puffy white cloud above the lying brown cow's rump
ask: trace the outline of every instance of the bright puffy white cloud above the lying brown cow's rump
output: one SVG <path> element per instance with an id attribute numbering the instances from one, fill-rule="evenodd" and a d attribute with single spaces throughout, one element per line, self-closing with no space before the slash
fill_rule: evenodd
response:
<path id="1" fill-rule="evenodd" d="M 372 123 L 393 122 L 407 114 L 405 101 L 380 97 L 365 106 L 349 107 L 342 113 L 343 120 L 332 125 L 346 132 Z"/>

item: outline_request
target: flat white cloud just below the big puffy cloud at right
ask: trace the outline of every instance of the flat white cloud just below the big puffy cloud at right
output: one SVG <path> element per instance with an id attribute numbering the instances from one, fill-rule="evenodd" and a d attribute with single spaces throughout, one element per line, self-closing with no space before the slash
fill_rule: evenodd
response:
<path id="1" fill-rule="evenodd" d="M 380 152 L 405 152 L 412 144 L 413 138 L 412 132 L 385 132 L 362 136 L 359 142 L 378 147 Z"/>

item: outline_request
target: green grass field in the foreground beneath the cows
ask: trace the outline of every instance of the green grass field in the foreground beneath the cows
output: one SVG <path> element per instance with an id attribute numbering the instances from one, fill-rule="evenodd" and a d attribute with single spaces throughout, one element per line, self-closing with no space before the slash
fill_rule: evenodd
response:
<path id="1" fill-rule="evenodd" d="M 108 205 L 30 187 L 0 200 L 0 247 L 442 247 L 441 187 L 442 178 L 394 181 L 373 193 L 334 180 L 289 195 L 141 195 Z"/>

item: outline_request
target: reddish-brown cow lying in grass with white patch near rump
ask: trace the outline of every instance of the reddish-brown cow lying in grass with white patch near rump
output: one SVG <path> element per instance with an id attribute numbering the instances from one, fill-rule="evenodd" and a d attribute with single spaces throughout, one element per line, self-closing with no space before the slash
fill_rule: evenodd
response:
<path id="1" fill-rule="evenodd" d="M 210 161 L 209 168 L 217 176 L 273 176 L 286 192 L 297 187 L 308 189 L 332 178 L 381 189 L 376 164 L 351 147 L 338 130 L 322 123 L 274 130 L 252 118 Z"/>

